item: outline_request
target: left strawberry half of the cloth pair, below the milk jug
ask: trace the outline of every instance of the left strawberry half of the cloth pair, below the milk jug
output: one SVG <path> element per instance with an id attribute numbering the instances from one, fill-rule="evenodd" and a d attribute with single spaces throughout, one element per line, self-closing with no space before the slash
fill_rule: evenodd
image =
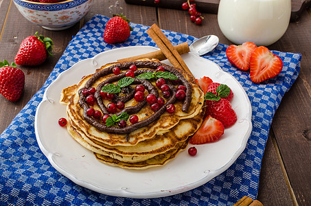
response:
<path id="1" fill-rule="evenodd" d="M 230 45 L 226 50 L 226 55 L 232 65 L 246 71 L 249 70 L 251 54 L 256 48 L 257 46 L 252 42 L 246 42 L 242 45 Z"/>

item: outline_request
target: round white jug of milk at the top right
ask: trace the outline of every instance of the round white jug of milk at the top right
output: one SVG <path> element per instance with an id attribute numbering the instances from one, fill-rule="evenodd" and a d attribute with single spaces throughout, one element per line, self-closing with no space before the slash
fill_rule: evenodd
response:
<path id="1" fill-rule="evenodd" d="M 235 44 L 268 46 L 286 32 L 290 14 L 290 0 L 220 0 L 218 24 Z"/>

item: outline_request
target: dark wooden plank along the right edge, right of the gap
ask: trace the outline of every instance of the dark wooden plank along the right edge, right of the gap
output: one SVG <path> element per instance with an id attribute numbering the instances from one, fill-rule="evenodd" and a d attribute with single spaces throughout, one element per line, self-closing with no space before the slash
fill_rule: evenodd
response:
<path id="1" fill-rule="evenodd" d="M 311 205 L 311 10 L 270 49 L 302 54 L 301 73 L 284 95 L 273 119 L 273 133 L 299 205 Z M 307 37 L 308 36 L 308 37 Z"/>

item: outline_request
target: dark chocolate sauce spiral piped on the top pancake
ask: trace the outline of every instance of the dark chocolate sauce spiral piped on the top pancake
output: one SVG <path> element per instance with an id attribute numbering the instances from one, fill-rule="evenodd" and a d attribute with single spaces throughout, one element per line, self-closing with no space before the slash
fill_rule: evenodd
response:
<path id="1" fill-rule="evenodd" d="M 128 133 L 133 132 L 134 130 L 137 130 L 138 128 L 142 128 L 143 126 L 148 126 L 150 123 L 159 119 L 159 117 L 163 113 L 165 113 L 166 106 L 168 104 L 174 104 L 174 102 L 176 102 L 176 96 L 175 96 L 176 88 L 172 84 L 168 84 L 168 86 L 170 87 L 170 91 L 171 91 L 171 98 L 168 100 L 168 102 L 166 102 L 163 106 L 161 106 L 161 108 L 158 111 L 150 115 L 150 117 L 148 117 L 147 119 L 143 119 L 137 122 L 136 124 L 131 124 L 129 126 L 126 126 L 125 128 L 119 128 L 118 126 L 106 126 L 104 124 L 101 124 L 99 120 L 94 119 L 93 117 L 87 115 L 87 108 L 89 108 L 89 104 L 87 104 L 85 100 L 86 97 L 82 94 L 82 90 L 85 88 L 88 89 L 89 87 L 91 87 L 99 78 L 102 78 L 108 74 L 113 73 L 114 67 L 119 67 L 120 70 L 125 70 L 125 69 L 128 69 L 130 65 L 136 65 L 137 67 L 137 71 L 135 71 L 135 76 L 138 76 L 140 73 L 154 72 L 154 70 L 157 69 L 157 67 L 159 66 L 163 66 L 165 71 L 174 73 L 174 75 L 179 79 L 181 84 L 183 84 L 186 87 L 186 95 L 185 95 L 185 100 L 183 101 L 182 111 L 187 113 L 187 111 L 189 110 L 190 103 L 192 101 L 192 85 L 174 67 L 170 67 L 168 65 L 162 65 L 160 62 L 151 62 L 151 61 L 122 62 L 116 65 L 111 65 L 107 67 L 106 69 L 102 69 L 101 71 L 98 71 L 87 81 L 84 87 L 78 91 L 79 98 L 80 98 L 79 105 L 81 106 L 81 108 L 83 108 L 83 117 L 89 124 L 97 128 L 98 130 L 104 131 L 107 133 L 115 133 L 115 134 L 120 134 L 120 135 L 128 134 Z M 139 69 L 139 68 L 148 68 L 148 69 Z M 104 105 L 104 103 L 102 102 L 102 96 L 100 95 L 100 91 L 102 90 L 102 87 L 104 87 L 104 84 L 106 83 L 116 82 L 118 80 L 121 80 L 124 77 L 125 77 L 125 73 L 120 73 L 119 75 L 112 76 L 111 78 L 108 78 L 104 80 L 103 82 L 101 82 L 100 84 L 98 84 L 96 88 L 96 92 L 95 92 L 95 99 L 96 99 L 97 105 L 100 107 L 103 114 L 109 114 L 109 112 L 106 106 Z M 157 97 L 159 96 L 158 90 L 148 80 L 135 78 L 135 81 L 133 82 L 133 84 L 143 84 L 143 86 L 146 88 L 146 90 L 149 93 L 154 93 L 154 95 L 156 95 Z M 126 103 L 133 98 L 133 95 L 134 95 L 133 92 L 130 92 L 122 96 L 119 95 L 116 97 L 115 101 L 121 100 L 122 102 Z M 146 104 L 147 102 L 145 99 L 141 102 L 138 102 L 138 104 L 136 104 L 135 106 L 129 106 L 129 107 L 124 108 L 122 111 L 119 111 L 119 113 L 115 113 L 115 115 L 120 115 L 121 113 L 124 113 L 124 112 L 128 113 L 129 115 L 138 113 L 141 110 L 141 108 L 143 108 L 143 106 L 145 106 Z"/>

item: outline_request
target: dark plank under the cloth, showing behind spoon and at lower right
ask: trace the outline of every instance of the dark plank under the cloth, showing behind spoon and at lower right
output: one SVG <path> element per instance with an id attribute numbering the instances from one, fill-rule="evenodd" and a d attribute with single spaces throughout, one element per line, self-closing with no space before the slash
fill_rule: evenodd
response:
<path id="1" fill-rule="evenodd" d="M 205 20 L 203 25 L 195 25 L 189 20 L 189 15 L 180 10 L 166 10 L 159 8 L 159 24 L 164 30 L 173 30 L 200 38 L 207 34 L 215 34 L 220 38 L 220 43 L 231 44 L 227 38 L 224 37 L 217 23 L 217 16 L 215 14 L 203 13 Z M 170 19 L 170 22 L 165 21 Z M 260 190 L 258 192 L 258 200 L 272 205 L 271 197 L 276 198 L 280 205 L 290 205 L 290 193 L 287 190 L 287 185 L 281 171 L 277 154 L 273 148 L 271 141 L 268 141 L 263 159 L 263 166 L 260 174 Z"/>

